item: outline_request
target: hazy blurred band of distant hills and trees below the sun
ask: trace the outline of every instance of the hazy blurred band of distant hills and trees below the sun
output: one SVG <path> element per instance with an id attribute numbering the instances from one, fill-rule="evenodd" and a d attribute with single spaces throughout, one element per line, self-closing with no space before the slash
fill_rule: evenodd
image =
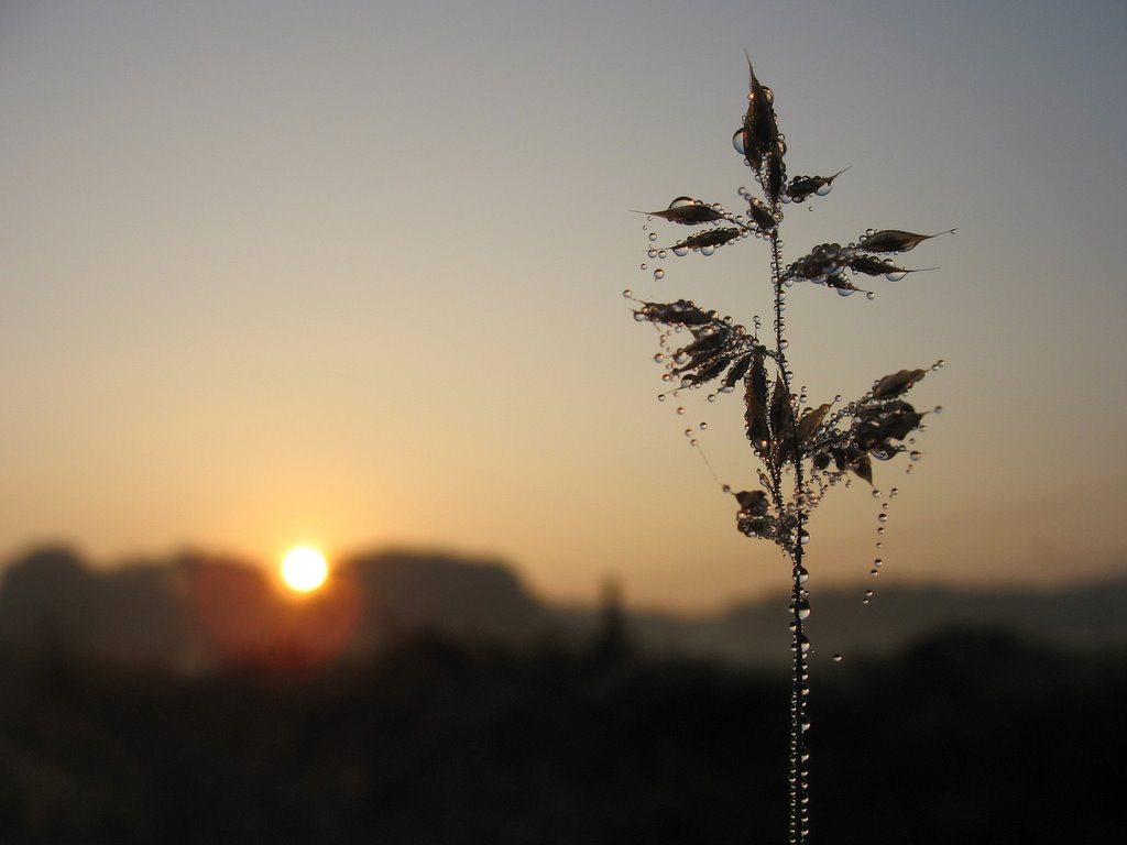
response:
<path id="1" fill-rule="evenodd" d="M 0 646 L 61 649 L 131 665 L 195 671 L 241 662 L 363 660 L 419 633 L 535 647 L 614 635 L 654 655 L 736 664 L 789 659 L 787 598 L 711 616 L 632 612 L 534 597 L 502 562 L 384 551 L 343 561 L 330 586 L 301 599 L 260 568 L 202 553 L 95 568 L 60 546 L 3 569 Z M 1127 646 L 1127 580 L 1057 592 L 940 587 L 815 593 L 809 628 L 832 651 L 890 653 L 934 631 L 988 625 L 1066 649 Z"/>

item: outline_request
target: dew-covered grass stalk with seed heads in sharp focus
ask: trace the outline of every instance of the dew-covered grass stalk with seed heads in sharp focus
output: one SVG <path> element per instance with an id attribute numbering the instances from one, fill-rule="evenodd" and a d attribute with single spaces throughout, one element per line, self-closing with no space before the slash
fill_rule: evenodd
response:
<path id="1" fill-rule="evenodd" d="M 719 204 L 677 197 L 664 211 L 649 212 L 647 220 L 660 217 L 701 229 L 666 249 L 651 246 L 649 255 L 650 258 L 665 258 L 668 252 L 709 256 L 721 247 L 748 238 L 765 241 L 770 248 L 774 292 L 773 337 L 766 341 L 760 339 L 758 318 L 749 331 L 735 324 L 731 318 L 721 318 L 718 312 L 699 308 L 689 300 L 647 302 L 637 300 L 631 291 L 627 291 L 625 296 L 638 303 L 635 311 L 638 321 L 659 329 L 664 352 L 656 358 L 665 365 L 663 379 L 675 385 L 672 393 L 704 385 L 713 385 L 716 393 L 736 390 L 744 393 L 747 439 L 761 463 L 760 487 L 734 491 L 725 486 L 724 489 L 735 496 L 738 505 L 736 526 L 739 532 L 775 543 L 791 563 L 790 630 L 795 658 L 790 713 L 790 842 L 802 843 L 808 831 L 809 803 L 805 732 L 809 727 L 807 659 L 810 643 L 804 630 L 810 613 L 804 564 L 804 546 L 809 540 L 807 525 L 810 513 L 829 488 L 851 473 L 871 484 L 873 460 L 889 461 L 907 451 L 905 441 L 921 428 L 924 413 L 905 401 L 904 395 L 928 370 L 899 370 L 886 375 L 851 402 L 841 403 L 837 397 L 817 407 L 807 406 L 805 389 L 800 395 L 795 395 L 795 376 L 787 362 L 786 290 L 809 282 L 849 296 L 861 291 L 854 284 L 858 276 L 898 281 L 915 270 L 900 267 L 887 256 L 907 252 L 938 235 L 869 229 L 849 246 L 822 243 L 801 258 L 784 264 L 780 235 L 784 206 L 825 196 L 845 171 L 833 176 L 787 178 L 787 143 L 779 131 L 774 95 L 756 78 L 751 59 L 747 66 L 747 112 L 733 136 L 733 144 L 752 169 L 762 198 L 739 188 L 746 211 L 731 213 Z M 656 234 L 650 233 L 649 240 L 653 243 Z M 654 270 L 656 279 L 664 276 L 664 269 Z M 872 299 L 875 294 L 867 292 L 867 295 Z M 942 361 L 937 362 L 932 368 L 942 364 Z M 716 393 L 709 399 L 715 399 Z M 665 394 L 659 398 L 664 399 Z M 911 460 L 919 456 L 919 452 L 911 451 Z"/>

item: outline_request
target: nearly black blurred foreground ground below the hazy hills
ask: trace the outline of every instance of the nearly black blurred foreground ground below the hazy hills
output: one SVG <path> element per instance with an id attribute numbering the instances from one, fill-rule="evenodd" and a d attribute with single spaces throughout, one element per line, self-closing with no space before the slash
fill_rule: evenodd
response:
<path id="1" fill-rule="evenodd" d="M 786 842 L 786 678 L 419 640 L 183 679 L 0 658 L 0 842 Z M 1095 843 L 1127 661 L 953 632 L 814 682 L 811 843 Z"/>

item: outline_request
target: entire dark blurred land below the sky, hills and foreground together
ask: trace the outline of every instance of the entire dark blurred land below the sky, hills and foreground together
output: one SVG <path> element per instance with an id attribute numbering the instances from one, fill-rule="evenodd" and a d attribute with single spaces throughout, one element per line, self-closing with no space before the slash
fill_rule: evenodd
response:
<path id="1" fill-rule="evenodd" d="M 815 840 L 1111 839 L 1125 605 L 902 587 L 854 624 L 822 594 L 848 659 L 811 681 Z M 403 551 L 295 601 L 246 562 L 38 549 L 0 585 L 0 840 L 782 842 L 784 610 L 556 607 Z"/>

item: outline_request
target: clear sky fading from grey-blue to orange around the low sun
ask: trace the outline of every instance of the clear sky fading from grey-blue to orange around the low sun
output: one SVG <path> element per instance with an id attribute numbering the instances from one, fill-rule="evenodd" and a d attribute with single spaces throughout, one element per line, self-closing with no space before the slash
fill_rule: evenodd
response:
<path id="1" fill-rule="evenodd" d="M 788 207 L 788 259 L 958 228 L 871 302 L 790 292 L 814 403 L 946 361 L 912 472 L 815 513 L 811 592 L 877 555 L 880 584 L 1127 575 L 1124 33 L 1112 0 L 8 0 L 0 557 L 396 546 L 559 602 L 784 589 L 719 487 L 755 479 L 738 397 L 659 403 L 622 297 L 770 324 L 762 242 L 655 263 L 632 213 L 738 207 L 746 50 L 790 174 L 850 167 Z"/>

